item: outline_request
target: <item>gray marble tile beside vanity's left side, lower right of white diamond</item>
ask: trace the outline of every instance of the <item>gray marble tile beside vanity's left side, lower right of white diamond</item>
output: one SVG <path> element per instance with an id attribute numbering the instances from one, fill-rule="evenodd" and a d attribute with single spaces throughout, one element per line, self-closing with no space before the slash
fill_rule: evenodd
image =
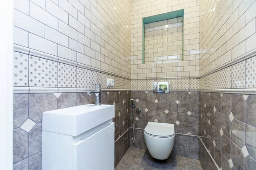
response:
<path id="1" fill-rule="evenodd" d="M 37 123 L 29 132 L 29 156 L 42 151 L 42 123 Z"/>

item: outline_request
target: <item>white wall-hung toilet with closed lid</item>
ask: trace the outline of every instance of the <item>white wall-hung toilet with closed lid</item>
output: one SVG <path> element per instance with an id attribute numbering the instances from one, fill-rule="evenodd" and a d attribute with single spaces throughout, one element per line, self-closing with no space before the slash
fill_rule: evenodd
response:
<path id="1" fill-rule="evenodd" d="M 155 159 L 167 159 L 172 152 L 175 140 L 174 125 L 148 122 L 144 138 L 150 155 Z"/>

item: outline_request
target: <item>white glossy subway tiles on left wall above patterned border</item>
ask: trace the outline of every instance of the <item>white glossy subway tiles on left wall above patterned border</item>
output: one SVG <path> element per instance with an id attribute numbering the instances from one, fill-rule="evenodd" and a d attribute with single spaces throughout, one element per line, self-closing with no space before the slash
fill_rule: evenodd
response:
<path id="1" fill-rule="evenodd" d="M 15 44 L 131 78 L 130 0 L 15 0 L 14 8 Z"/>

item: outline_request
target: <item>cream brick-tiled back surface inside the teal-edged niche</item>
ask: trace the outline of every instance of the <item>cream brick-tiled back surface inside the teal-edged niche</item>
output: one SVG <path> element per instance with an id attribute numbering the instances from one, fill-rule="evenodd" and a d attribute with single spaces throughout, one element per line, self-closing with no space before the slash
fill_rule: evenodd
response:
<path id="1" fill-rule="evenodd" d="M 183 17 L 145 24 L 145 63 L 182 61 L 182 45 Z"/>

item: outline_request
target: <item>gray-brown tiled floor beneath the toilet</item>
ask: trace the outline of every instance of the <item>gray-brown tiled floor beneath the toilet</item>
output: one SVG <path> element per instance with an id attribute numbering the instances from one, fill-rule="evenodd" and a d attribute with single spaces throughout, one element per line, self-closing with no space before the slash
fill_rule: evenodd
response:
<path id="1" fill-rule="evenodd" d="M 167 160 L 154 159 L 148 150 L 130 147 L 115 170 L 202 170 L 198 160 L 171 155 Z"/>

